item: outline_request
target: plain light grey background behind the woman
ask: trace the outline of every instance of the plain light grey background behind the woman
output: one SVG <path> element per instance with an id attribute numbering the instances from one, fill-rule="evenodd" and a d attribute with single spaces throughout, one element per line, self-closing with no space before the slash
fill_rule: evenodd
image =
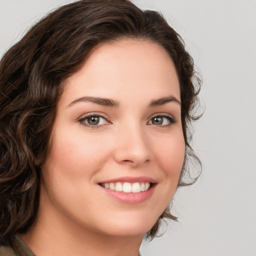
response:
<path id="1" fill-rule="evenodd" d="M 0 56 L 42 15 L 70 0 L 0 0 Z M 256 255 L 256 1 L 133 0 L 160 10 L 203 77 L 194 148 L 199 180 L 178 190 L 178 223 L 141 245 L 144 256 Z M 150 214 L 150 212 L 148 212 Z"/>

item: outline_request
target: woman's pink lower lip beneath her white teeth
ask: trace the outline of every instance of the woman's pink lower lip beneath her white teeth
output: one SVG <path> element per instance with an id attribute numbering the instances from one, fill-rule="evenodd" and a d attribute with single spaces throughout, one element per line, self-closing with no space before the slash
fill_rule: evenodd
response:
<path id="1" fill-rule="evenodd" d="M 138 192 L 138 193 L 125 193 L 122 191 L 107 189 L 103 186 L 100 186 L 100 187 L 103 189 L 105 193 L 107 193 L 107 195 L 117 199 L 118 201 L 135 204 L 135 203 L 140 203 L 149 199 L 153 194 L 155 184 L 151 186 L 148 190 Z"/>

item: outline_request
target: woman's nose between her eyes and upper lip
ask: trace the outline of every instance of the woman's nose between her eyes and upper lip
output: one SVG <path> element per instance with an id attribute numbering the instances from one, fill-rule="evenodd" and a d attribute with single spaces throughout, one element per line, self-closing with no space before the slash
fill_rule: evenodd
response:
<path id="1" fill-rule="evenodd" d="M 120 128 L 115 141 L 114 159 L 121 164 L 138 166 L 152 160 L 149 141 L 141 127 Z"/>

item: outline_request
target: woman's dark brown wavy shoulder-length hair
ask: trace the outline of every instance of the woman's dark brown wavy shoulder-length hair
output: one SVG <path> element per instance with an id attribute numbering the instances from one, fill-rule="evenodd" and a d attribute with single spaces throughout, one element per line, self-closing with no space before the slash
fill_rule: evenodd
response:
<path id="1" fill-rule="evenodd" d="M 142 11 L 128 0 L 76 1 L 33 25 L 0 61 L 1 238 L 26 232 L 35 220 L 40 165 L 49 152 L 62 82 L 81 67 L 95 45 L 122 38 L 157 43 L 172 59 L 179 78 L 186 146 L 178 186 L 198 177 L 190 175 L 188 160 L 200 164 L 190 146 L 190 124 L 198 118 L 194 109 L 201 82 L 182 38 L 160 13 Z M 177 219 L 167 207 L 148 231 L 149 239 L 157 235 L 165 218 Z"/>

